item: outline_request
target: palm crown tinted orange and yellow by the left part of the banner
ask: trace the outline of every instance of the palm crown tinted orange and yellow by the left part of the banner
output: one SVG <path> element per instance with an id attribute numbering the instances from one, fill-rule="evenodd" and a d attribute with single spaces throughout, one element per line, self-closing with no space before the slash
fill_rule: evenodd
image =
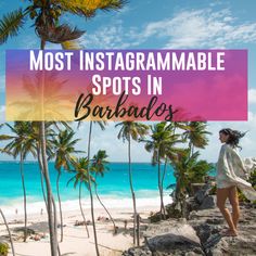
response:
<path id="1" fill-rule="evenodd" d="M 40 84 L 43 87 L 39 87 L 38 85 Z M 37 120 L 43 116 L 52 120 L 68 119 L 68 114 L 63 112 L 63 110 L 71 104 L 71 97 L 74 97 L 74 94 L 65 92 L 66 84 L 67 80 L 61 78 L 60 73 L 56 72 L 23 75 L 22 87 L 27 97 L 26 99 L 14 99 L 10 102 L 14 110 L 22 106 L 22 110 L 13 118 L 18 120 Z"/>

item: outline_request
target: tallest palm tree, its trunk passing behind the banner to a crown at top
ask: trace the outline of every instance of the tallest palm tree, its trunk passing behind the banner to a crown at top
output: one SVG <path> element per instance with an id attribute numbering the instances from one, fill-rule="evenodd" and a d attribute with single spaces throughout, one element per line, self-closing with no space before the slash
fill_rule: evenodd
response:
<path id="1" fill-rule="evenodd" d="M 75 15 L 92 17 L 97 10 L 119 10 L 126 3 L 125 0 L 29 0 L 29 4 L 24 9 L 12 11 L 0 21 L 0 44 L 4 43 L 9 37 L 17 36 L 20 28 L 24 25 L 26 17 L 33 21 L 37 36 L 40 38 L 40 49 L 44 50 L 46 42 L 63 43 L 79 38 L 84 31 L 71 28 L 66 24 L 60 25 L 60 17 L 63 13 L 69 12 Z M 43 85 L 43 77 L 41 79 Z M 42 118 L 43 119 L 43 118 Z M 56 232 L 53 228 L 52 216 L 52 189 L 49 178 L 47 162 L 46 124 L 40 123 L 40 146 L 42 156 L 42 168 L 47 184 L 48 194 L 48 220 L 50 230 L 51 255 L 57 255 Z"/>

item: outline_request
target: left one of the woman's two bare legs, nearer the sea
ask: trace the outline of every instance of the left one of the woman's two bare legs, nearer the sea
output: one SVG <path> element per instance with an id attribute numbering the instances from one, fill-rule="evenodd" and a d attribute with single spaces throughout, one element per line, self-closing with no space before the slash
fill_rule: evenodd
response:
<path id="1" fill-rule="evenodd" d="M 223 215 L 226 221 L 228 222 L 230 233 L 235 235 L 236 229 L 233 223 L 233 219 L 231 217 L 229 209 L 226 208 L 226 200 L 228 199 L 229 194 L 230 194 L 230 188 L 217 189 L 217 206 L 220 213 Z"/>

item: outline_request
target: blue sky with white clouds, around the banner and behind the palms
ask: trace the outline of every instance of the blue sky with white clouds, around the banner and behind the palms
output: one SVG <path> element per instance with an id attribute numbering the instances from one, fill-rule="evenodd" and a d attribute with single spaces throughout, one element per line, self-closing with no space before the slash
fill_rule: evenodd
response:
<path id="1" fill-rule="evenodd" d="M 0 17 L 26 1 L 0 2 Z M 98 12 L 91 20 L 65 15 L 63 22 L 86 30 L 80 44 L 87 49 L 247 49 L 248 50 L 248 121 L 208 123 L 213 132 L 202 158 L 216 162 L 220 143 L 218 130 L 223 127 L 248 131 L 242 140 L 243 156 L 256 156 L 256 18 L 255 0 L 129 0 L 119 12 Z M 5 50 L 37 49 L 39 39 L 27 21 L 20 36 L 0 47 L 0 121 L 4 121 Z M 47 48 L 60 49 L 48 44 Z M 228 95 L 227 95 L 228 97 Z M 75 126 L 75 125 L 74 125 Z M 116 139 L 118 130 L 111 123 L 104 132 L 95 127 L 92 151 L 104 149 L 111 161 L 126 162 L 127 146 Z M 7 129 L 2 129 L 8 132 Z M 79 149 L 87 148 L 88 124 L 77 132 L 84 138 Z M 133 161 L 149 162 L 143 145 L 133 143 Z M 0 159 L 9 159 L 0 155 Z"/>

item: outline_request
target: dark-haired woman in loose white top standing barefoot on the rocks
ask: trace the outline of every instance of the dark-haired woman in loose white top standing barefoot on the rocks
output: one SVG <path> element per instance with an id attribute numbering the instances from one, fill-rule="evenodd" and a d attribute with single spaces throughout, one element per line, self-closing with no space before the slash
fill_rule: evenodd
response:
<path id="1" fill-rule="evenodd" d="M 238 222 L 240 218 L 240 207 L 236 187 L 242 190 L 249 201 L 256 200 L 256 191 L 246 179 L 246 170 L 243 162 L 235 149 L 239 141 L 245 133 L 230 128 L 219 131 L 219 140 L 225 143 L 219 153 L 217 164 L 217 206 L 228 222 L 229 229 L 225 235 L 238 235 Z M 226 200 L 229 199 L 232 206 L 232 214 L 226 208 Z"/>

